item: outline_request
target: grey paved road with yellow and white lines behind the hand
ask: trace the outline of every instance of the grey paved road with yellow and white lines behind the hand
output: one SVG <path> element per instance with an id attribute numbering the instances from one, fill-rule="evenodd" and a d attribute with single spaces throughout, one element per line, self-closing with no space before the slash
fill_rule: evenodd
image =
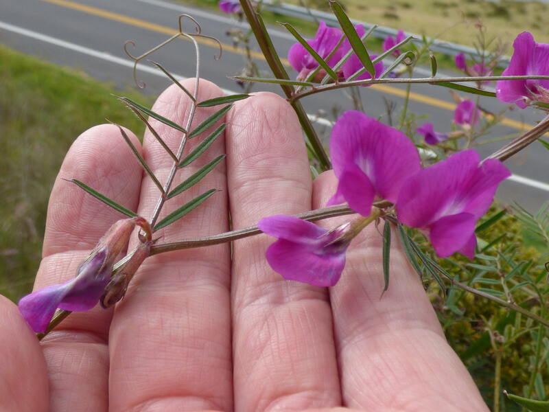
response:
<path id="1" fill-rule="evenodd" d="M 224 89 L 237 91 L 233 80 L 226 76 L 237 74 L 242 67 L 243 56 L 235 50 L 226 37 L 229 27 L 244 25 L 229 16 L 209 10 L 199 10 L 167 3 L 163 0 L 0 0 L 0 42 L 34 54 L 60 65 L 78 67 L 100 80 L 115 82 L 119 87 L 132 85 L 131 62 L 121 45 L 128 39 L 135 40 L 135 54 L 154 47 L 165 40 L 176 27 L 177 16 L 188 13 L 202 25 L 202 32 L 219 38 L 224 43 L 224 54 L 218 62 L 213 60 L 215 49 L 202 45 L 202 76 L 217 82 Z M 190 30 L 190 26 L 189 26 Z M 292 37 L 286 32 L 272 29 L 274 45 L 285 55 L 292 45 Z M 257 54 L 259 56 L 259 54 Z M 154 60 L 180 76 L 194 75 L 194 50 L 187 42 L 174 42 L 152 56 Z M 0 62 L 1 64 L 1 62 Z M 269 74 L 264 60 L 259 67 Z M 291 70 L 291 69 L 290 69 Z M 418 76 L 427 76 L 426 71 Z M 139 78 L 147 83 L 145 93 L 159 93 L 170 81 L 159 76 L 159 71 L 141 66 Z M 1 81 L 1 80 L 0 80 Z M 258 85 L 255 90 L 270 90 L 279 93 L 277 87 Z M 410 110 L 427 114 L 436 130 L 449 130 L 452 121 L 452 102 L 447 89 L 428 85 L 412 87 Z M 384 98 L 397 104 L 403 103 L 402 87 L 376 86 L 362 89 L 366 112 L 371 116 L 385 114 Z M 323 93 L 303 100 L 308 113 L 331 106 L 349 108 L 350 102 L 344 91 Z M 490 111 L 498 112 L 503 104 L 485 98 L 481 104 Z M 541 119 L 536 111 L 515 110 L 509 113 L 503 126 L 494 128 L 487 139 L 519 133 L 527 124 Z M 329 133 L 329 122 L 316 123 L 321 133 Z M 481 146 L 482 155 L 488 155 L 500 144 Z M 528 209 L 536 209 L 549 200 L 548 152 L 534 144 L 528 150 L 508 161 L 515 174 L 512 181 L 502 185 L 498 196 L 504 201 L 519 200 Z"/>

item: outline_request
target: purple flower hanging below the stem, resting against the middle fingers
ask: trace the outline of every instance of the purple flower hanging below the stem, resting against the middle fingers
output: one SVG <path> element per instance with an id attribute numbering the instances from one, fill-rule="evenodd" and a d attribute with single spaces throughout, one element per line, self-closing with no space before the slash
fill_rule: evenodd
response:
<path id="1" fill-rule="evenodd" d="M 314 223 L 277 215 L 259 220 L 259 230 L 279 238 L 266 257 L 284 279 L 314 286 L 334 286 L 345 266 L 349 239 L 342 237 L 349 223 L 327 231 Z"/>

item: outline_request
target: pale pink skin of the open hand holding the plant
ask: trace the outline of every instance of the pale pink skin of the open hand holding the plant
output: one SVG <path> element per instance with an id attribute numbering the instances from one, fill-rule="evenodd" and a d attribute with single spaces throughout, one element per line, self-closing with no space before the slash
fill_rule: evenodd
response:
<path id="1" fill-rule="evenodd" d="M 192 80 L 184 84 L 192 91 Z M 199 100 L 222 95 L 214 84 L 200 84 Z M 189 99 L 170 87 L 154 110 L 181 124 Z M 199 109 L 195 124 L 214 110 Z M 221 191 L 167 227 L 159 242 L 226 231 L 229 212 L 238 229 L 264 216 L 323 207 L 334 194 L 331 172 L 312 181 L 299 123 L 283 99 L 257 93 L 237 102 L 225 121 L 224 138 L 176 183 L 217 155 L 226 153 L 226 162 L 166 210 L 210 188 Z M 175 148 L 180 134 L 153 124 Z M 170 158 L 151 135 L 142 147 L 132 139 L 163 181 Z M 35 288 L 73 277 L 102 233 L 123 217 L 61 178 L 84 181 L 145 218 L 158 196 L 115 126 L 87 130 L 51 192 Z M 16 306 L 0 298 L 0 409 L 488 410 L 396 241 L 390 287 L 380 298 L 382 238 L 375 227 L 353 241 L 333 288 L 274 273 L 264 258 L 273 240 L 237 240 L 232 261 L 228 244 L 153 256 L 114 309 L 71 314 L 41 343 Z"/>

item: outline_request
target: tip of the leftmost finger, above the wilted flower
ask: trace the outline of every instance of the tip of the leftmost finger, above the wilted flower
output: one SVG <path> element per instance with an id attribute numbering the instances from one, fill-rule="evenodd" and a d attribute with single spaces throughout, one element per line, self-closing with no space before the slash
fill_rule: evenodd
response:
<path id="1" fill-rule="evenodd" d="M 138 152 L 139 139 L 124 131 Z M 141 165 L 114 124 L 101 124 L 82 133 L 65 156 L 51 190 L 43 257 L 70 249 L 93 247 L 119 212 L 102 204 L 67 180 L 78 179 L 124 205 L 137 207 Z"/>

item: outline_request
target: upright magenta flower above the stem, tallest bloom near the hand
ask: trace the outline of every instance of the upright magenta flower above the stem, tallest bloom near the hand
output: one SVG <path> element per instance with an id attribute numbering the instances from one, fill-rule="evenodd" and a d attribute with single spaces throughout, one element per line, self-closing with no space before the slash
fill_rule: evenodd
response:
<path id="1" fill-rule="evenodd" d="M 347 201 L 362 216 L 370 215 L 376 198 L 397 201 L 402 183 L 421 168 L 404 133 L 359 111 L 344 113 L 334 125 L 330 155 L 339 182 L 328 205 Z"/>

